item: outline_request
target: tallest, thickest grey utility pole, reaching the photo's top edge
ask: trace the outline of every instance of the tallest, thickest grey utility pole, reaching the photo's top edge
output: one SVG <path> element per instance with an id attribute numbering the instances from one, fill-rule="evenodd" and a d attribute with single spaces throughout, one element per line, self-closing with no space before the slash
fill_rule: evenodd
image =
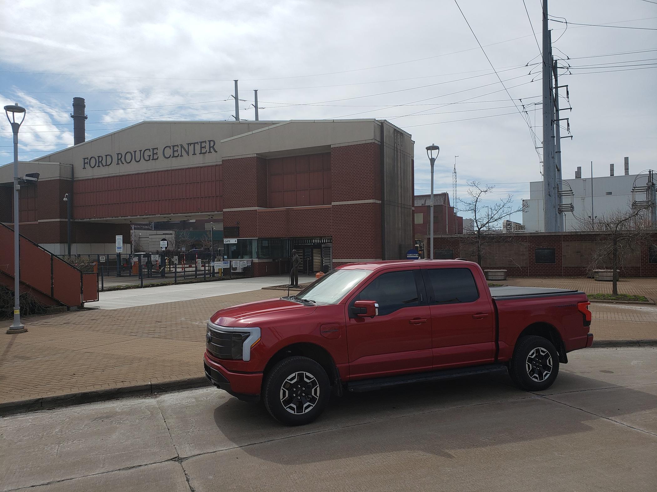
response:
<path id="1" fill-rule="evenodd" d="M 552 40 L 547 25 L 547 0 L 543 0 L 543 224 L 545 232 L 558 230 Z"/>

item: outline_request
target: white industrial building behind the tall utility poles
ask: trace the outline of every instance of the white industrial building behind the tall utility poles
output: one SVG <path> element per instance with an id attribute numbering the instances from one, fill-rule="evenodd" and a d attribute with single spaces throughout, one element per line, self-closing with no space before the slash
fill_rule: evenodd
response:
<path id="1" fill-rule="evenodd" d="M 610 166 L 610 176 L 596 176 L 593 180 L 590 177 L 582 178 L 581 167 L 578 167 L 575 175 L 578 176 L 575 179 L 564 180 L 563 189 L 568 190 L 570 186 L 572 195 L 564 195 L 562 203 L 572 203 L 573 208 L 572 212 L 561 214 L 561 220 L 565 220 L 566 231 L 582 230 L 582 222 L 578 218 L 586 221 L 591 220 L 591 215 L 595 218 L 613 211 L 629 210 L 633 200 L 649 199 L 643 190 L 635 194 L 632 192 L 635 187 L 650 188 L 648 174 L 629 174 L 627 164 L 625 174 L 618 176 L 614 176 L 613 164 Z M 654 187 L 654 184 L 652 186 Z M 543 182 L 530 182 L 530 197 L 522 202 L 525 206 L 522 223 L 526 232 L 543 232 Z"/>

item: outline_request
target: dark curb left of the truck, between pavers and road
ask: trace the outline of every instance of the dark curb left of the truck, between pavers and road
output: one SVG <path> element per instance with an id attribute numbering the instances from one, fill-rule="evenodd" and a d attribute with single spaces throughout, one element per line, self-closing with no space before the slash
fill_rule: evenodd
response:
<path id="1" fill-rule="evenodd" d="M 14 415 L 16 413 L 36 412 L 58 407 L 70 407 L 82 405 L 83 403 L 94 403 L 97 401 L 116 400 L 130 396 L 147 396 L 152 394 L 166 393 L 177 390 L 189 390 L 210 386 L 205 376 L 187 379 L 177 379 L 162 382 L 148 382 L 145 384 L 133 384 L 120 388 L 106 388 L 103 390 L 80 391 L 57 396 L 44 396 L 43 398 L 29 398 L 27 400 L 7 401 L 0 403 L 0 417 Z"/>

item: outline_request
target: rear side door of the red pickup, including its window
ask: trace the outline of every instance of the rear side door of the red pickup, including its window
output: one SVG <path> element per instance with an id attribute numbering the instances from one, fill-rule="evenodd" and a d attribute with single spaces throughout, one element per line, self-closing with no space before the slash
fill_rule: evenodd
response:
<path id="1" fill-rule="evenodd" d="M 435 369 L 485 364 L 495 357 L 495 312 L 470 268 L 422 268 L 432 321 Z M 487 288 L 487 287 L 486 287 Z"/>

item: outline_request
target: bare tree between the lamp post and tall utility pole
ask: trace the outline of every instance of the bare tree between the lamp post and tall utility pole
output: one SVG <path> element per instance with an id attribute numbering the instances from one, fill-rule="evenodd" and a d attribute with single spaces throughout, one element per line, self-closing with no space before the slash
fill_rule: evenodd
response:
<path id="1" fill-rule="evenodd" d="M 498 199 L 491 205 L 484 205 L 484 201 L 491 199 L 489 195 L 493 192 L 495 186 L 482 184 L 478 181 L 468 182 L 468 197 L 459 199 L 459 212 L 472 215 L 472 234 L 463 236 L 466 243 L 470 243 L 476 251 L 477 263 L 481 266 L 482 255 L 486 249 L 486 244 L 492 241 L 499 241 L 499 237 L 493 237 L 489 231 L 493 226 L 514 213 L 522 212 L 524 205 L 516 207 L 513 203 L 513 195 L 508 194 L 506 197 Z M 489 202 L 487 202 L 489 203 Z"/>

